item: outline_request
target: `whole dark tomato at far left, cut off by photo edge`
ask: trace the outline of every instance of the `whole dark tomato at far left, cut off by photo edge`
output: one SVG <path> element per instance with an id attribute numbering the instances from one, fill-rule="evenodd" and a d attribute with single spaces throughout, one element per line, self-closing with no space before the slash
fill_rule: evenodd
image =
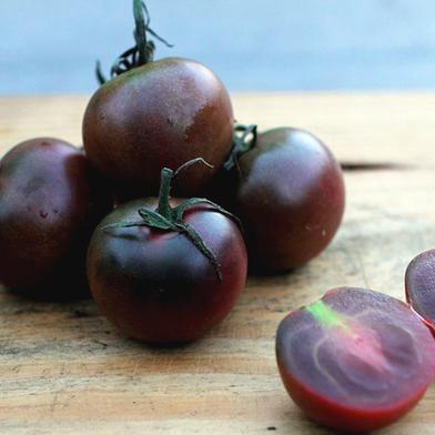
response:
<path id="1" fill-rule="evenodd" d="M 0 162 L 0 283 L 37 299 L 89 295 L 87 245 L 109 206 L 70 143 L 40 138 L 13 148 Z"/>

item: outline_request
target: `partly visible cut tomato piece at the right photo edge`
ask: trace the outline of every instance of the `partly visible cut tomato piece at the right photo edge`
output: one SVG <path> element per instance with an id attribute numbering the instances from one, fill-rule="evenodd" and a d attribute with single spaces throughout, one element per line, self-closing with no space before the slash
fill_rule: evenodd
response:
<path id="1" fill-rule="evenodd" d="M 405 275 L 406 300 L 435 335 L 435 250 L 417 255 Z"/>

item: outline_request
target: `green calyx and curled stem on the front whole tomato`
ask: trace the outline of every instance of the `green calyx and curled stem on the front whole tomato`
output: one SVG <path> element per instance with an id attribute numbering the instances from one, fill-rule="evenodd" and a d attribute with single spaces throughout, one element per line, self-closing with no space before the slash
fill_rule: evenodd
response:
<path id="1" fill-rule="evenodd" d="M 204 204 L 212 206 L 215 211 L 230 218 L 241 227 L 240 220 L 222 206 L 215 204 L 214 202 L 205 198 L 191 198 L 174 208 L 171 206 L 169 201 L 172 181 L 180 174 L 180 172 L 186 170 L 188 168 L 196 163 L 202 163 L 209 168 L 213 168 L 202 158 L 190 160 L 189 162 L 181 165 L 175 172 L 169 168 L 163 168 L 161 172 L 158 209 L 155 211 L 152 211 L 146 208 L 141 208 L 138 210 L 138 214 L 142 219 L 141 221 L 119 222 L 115 224 L 110 224 L 104 226 L 103 231 L 115 227 L 149 226 L 161 231 L 175 231 L 181 234 L 184 234 L 196 246 L 196 249 L 204 256 L 206 256 L 206 259 L 210 261 L 213 269 L 215 270 L 219 281 L 222 281 L 221 264 L 219 263 L 216 255 L 206 245 L 201 235 L 198 234 L 198 232 L 188 222 L 184 221 L 184 213 L 192 206 Z"/>

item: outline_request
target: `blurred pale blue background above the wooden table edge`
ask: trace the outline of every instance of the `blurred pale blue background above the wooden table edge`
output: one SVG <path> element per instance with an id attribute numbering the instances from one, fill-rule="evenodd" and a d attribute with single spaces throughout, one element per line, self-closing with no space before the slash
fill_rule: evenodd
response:
<path id="1" fill-rule="evenodd" d="M 0 0 L 0 93 L 89 92 L 132 44 L 131 0 Z M 231 90 L 433 89 L 434 0 L 148 0 Z"/>

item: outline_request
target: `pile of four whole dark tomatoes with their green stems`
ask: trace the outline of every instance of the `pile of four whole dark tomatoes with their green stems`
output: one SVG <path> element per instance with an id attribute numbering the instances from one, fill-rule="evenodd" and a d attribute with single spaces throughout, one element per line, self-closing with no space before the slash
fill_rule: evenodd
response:
<path id="1" fill-rule="evenodd" d="M 154 61 L 148 34 L 165 41 L 140 0 L 134 17 L 135 47 L 110 80 L 98 68 L 83 150 L 42 138 L 2 159 L 0 282 L 40 299 L 89 284 L 127 335 L 189 342 L 233 307 L 247 259 L 286 271 L 328 244 L 343 176 L 308 132 L 235 125 L 220 79 L 192 60 Z"/>

